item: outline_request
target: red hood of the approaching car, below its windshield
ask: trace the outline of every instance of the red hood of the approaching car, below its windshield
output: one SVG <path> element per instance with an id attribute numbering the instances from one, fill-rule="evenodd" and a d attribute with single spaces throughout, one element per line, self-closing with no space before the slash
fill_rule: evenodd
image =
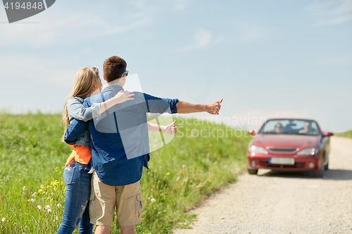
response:
<path id="1" fill-rule="evenodd" d="M 317 147 L 319 136 L 257 134 L 251 145 L 262 148 L 311 148 Z"/>

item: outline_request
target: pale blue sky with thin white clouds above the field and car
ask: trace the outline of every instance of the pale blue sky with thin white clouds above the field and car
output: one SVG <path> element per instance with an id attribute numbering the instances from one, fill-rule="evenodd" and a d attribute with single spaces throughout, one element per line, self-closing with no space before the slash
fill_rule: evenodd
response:
<path id="1" fill-rule="evenodd" d="M 102 71 L 116 55 L 146 93 L 223 98 L 218 121 L 256 129 L 259 117 L 307 117 L 352 129 L 350 0 L 61 0 L 12 24 L 0 7 L 0 41 L 8 112 L 61 112 L 75 72 Z"/>

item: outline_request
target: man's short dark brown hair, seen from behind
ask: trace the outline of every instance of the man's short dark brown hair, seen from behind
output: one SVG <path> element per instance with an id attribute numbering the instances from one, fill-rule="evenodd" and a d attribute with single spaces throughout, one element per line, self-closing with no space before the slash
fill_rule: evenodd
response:
<path id="1" fill-rule="evenodd" d="M 107 82 L 113 82 L 115 79 L 121 78 L 123 72 L 126 71 L 127 63 L 123 58 L 111 56 L 105 60 L 103 65 L 103 74 Z"/>

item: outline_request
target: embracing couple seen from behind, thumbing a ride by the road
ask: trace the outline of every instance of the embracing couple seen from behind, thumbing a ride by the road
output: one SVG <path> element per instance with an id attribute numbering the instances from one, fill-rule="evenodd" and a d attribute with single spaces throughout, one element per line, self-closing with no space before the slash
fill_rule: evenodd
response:
<path id="1" fill-rule="evenodd" d="M 99 70 L 84 67 L 65 103 L 65 141 L 73 152 L 65 164 L 66 186 L 63 219 L 57 233 L 110 233 L 116 216 L 122 234 L 134 234 L 141 223 L 143 167 L 148 169 L 148 131 L 175 134 L 175 122 L 160 126 L 147 122 L 147 113 L 208 112 L 218 115 L 222 100 L 192 104 L 128 92 L 127 63 L 112 56 L 103 63 L 102 89 Z M 97 93 L 94 95 L 94 93 Z"/>

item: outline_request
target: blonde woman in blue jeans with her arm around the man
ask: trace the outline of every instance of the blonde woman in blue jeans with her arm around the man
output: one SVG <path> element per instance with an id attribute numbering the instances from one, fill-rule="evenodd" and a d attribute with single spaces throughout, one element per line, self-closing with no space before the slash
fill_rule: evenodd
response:
<path id="1" fill-rule="evenodd" d="M 96 67 L 84 67 L 79 70 L 75 78 L 75 86 L 65 103 L 63 122 L 65 127 L 73 119 L 88 121 L 92 118 L 99 118 L 102 112 L 113 105 L 123 103 L 126 100 L 134 99 L 134 94 L 128 91 L 120 91 L 115 97 L 103 103 L 94 103 L 92 107 L 83 106 L 84 98 L 100 93 L 102 88 L 99 70 Z M 165 134 L 175 134 L 177 127 L 175 122 L 168 126 L 161 126 Z M 148 123 L 149 131 L 159 131 L 158 125 Z M 85 129 L 73 146 L 73 152 L 65 164 L 63 179 L 65 181 L 65 207 L 63 219 L 57 233 L 73 233 L 79 226 L 78 233 L 92 233 L 93 224 L 89 218 L 89 196 L 92 173 L 90 167 L 90 142 L 89 129 Z"/>

